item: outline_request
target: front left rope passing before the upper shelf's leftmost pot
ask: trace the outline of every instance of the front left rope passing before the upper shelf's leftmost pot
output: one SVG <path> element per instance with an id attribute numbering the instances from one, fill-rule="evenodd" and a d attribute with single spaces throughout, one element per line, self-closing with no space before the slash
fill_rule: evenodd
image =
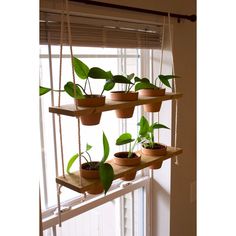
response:
<path id="1" fill-rule="evenodd" d="M 74 94 L 76 95 L 75 89 L 75 72 L 73 66 L 73 50 L 72 50 L 72 39 L 71 39 L 71 28 L 70 28 L 70 16 L 69 16 L 69 7 L 68 7 L 68 0 L 66 0 L 66 16 L 67 16 L 67 27 L 68 27 L 68 37 L 69 37 L 69 45 L 70 45 L 70 54 L 71 54 L 71 65 L 72 65 L 72 75 L 73 75 L 73 83 L 74 83 Z M 78 107 L 76 106 L 76 100 L 74 99 L 76 110 Z M 79 154 L 81 153 L 81 136 L 80 136 L 80 119 L 77 117 L 78 120 L 78 146 L 79 146 Z M 81 169 L 81 158 L 79 158 L 79 169 Z M 80 185 L 82 186 L 82 178 L 80 178 Z"/>

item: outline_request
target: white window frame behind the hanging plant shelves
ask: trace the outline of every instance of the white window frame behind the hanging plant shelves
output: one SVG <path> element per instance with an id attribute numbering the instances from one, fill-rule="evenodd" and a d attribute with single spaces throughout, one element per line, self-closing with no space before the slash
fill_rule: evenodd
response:
<path id="1" fill-rule="evenodd" d="M 141 57 L 141 74 L 142 76 L 149 76 L 150 75 L 150 55 L 149 50 L 141 50 L 140 57 Z M 75 55 L 80 58 L 99 58 L 99 57 L 106 57 L 106 58 L 120 58 L 121 63 L 123 64 L 124 68 L 123 71 L 126 72 L 126 59 L 127 58 L 134 58 L 137 57 L 137 55 L 126 55 L 125 49 L 121 50 L 121 56 L 119 55 Z M 52 55 L 52 58 L 58 58 L 58 55 Z M 63 55 L 63 58 L 69 58 L 70 55 Z M 48 58 L 48 55 L 42 54 L 40 55 L 40 58 Z M 141 107 L 140 107 L 141 108 Z M 41 112 L 41 103 L 40 103 L 40 112 Z M 143 110 L 140 109 L 140 115 L 143 115 Z M 40 119 L 42 122 L 42 119 Z M 43 128 L 42 123 L 40 122 L 40 128 L 41 128 L 41 134 L 43 134 Z M 122 120 L 120 122 L 120 131 L 126 132 L 126 120 Z M 41 135 L 41 143 L 43 144 L 43 135 Z M 44 147 L 42 146 L 42 150 L 44 150 Z M 44 152 L 42 151 L 42 164 L 44 165 Z M 92 196 L 87 195 L 86 199 L 82 194 L 79 194 L 78 197 L 70 199 L 65 202 L 61 202 L 61 221 L 69 220 L 73 217 L 78 216 L 79 214 L 82 214 L 86 211 L 89 211 L 97 206 L 101 206 L 102 204 L 105 204 L 109 201 L 112 201 L 114 199 L 118 199 L 122 196 L 124 196 L 127 193 L 133 193 L 135 190 L 139 188 L 144 189 L 144 236 L 150 236 L 151 235 L 151 216 L 152 216 L 152 208 L 150 207 L 151 203 L 151 188 L 152 188 L 152 174 L 147 170 L 142 170 L 141 175 L 137 176 L 136 179 L 132 182 L 126 183 L 125 186 L 122 184 L 122 181 L 114 181 L 113 185 L 111 186 L 109 192 L 106 196 L 99 195 L 99 196 Z M 47 183 L 46 183 L 46 172 L 43 173 L 43 182 L 44 182 L 44 199 L 45 199 L 45 206 L 47 206 Z M 119 224 L 122 226 L 122 198 L 120 198 L 120 204 L 118 204 L 120 208 L 120 221 Z M 52 228 L 53 229 L 53 235 L 56 235 L 56 225 L 58 225 L 58 215 L 55 214 L 57 211 L 57 205 L 52 206 L 45 210 L 42 213 L 42 219 L 43 219 L 43 230 Z M 134 223 L 133 219 L 132 221 L 132 236 L 134 236 Z M 122 227 L 120 227 L 122 229 Z M 124 228 L 124 227 L 123 227 Z M 124 231 L 118 232 L 117 235 L 125 236 Z"/>

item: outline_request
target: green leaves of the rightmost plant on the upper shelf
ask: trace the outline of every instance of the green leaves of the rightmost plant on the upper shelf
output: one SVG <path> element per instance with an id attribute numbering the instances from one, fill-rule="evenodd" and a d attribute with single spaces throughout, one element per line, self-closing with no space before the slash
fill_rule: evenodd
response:
<path id="1" fill-rule="evenodd" d="M 174 78 L 180 78 L 180 76 L 177 75 L 158 75 L 158 77 L 155 79 L 154 83 L 151 83 L 148 78 L 142 78 L 135 77 L 135 91 L 138 91 L 140 89 L 160 89 L 162 87 L 162 84 L 166 85 L 167 87 L 171 88 L 171 84 L 169 80 Z M 160 87 L 157 86 L 158 80 L 161 82 Z"/>

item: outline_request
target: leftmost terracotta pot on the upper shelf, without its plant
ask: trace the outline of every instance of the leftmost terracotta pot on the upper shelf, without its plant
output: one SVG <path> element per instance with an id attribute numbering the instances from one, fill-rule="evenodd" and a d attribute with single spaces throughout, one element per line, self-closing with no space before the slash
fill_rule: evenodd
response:
<path id="1" fill-rule="evenodd" d="M 105 104 L 105 96 L 101 95 L 86 95 L 84 99 L 76 99 L 76 105 L 80 107 L 100 107 Z M 97 125 L 101 119 L 101 112 L 91 115 L 81 116 L 83 125 Z"/>

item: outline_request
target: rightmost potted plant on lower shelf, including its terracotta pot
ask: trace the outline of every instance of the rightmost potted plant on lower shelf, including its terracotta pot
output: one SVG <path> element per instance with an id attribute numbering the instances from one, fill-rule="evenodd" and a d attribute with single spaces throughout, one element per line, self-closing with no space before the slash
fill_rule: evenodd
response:
<path id="1" fill-rule="evenodd" d="M 149 124 L 148 120 L 142 116 L 140 122 L 139 138 L 142 143 L 142 154 L 147 156 L 164 156 L 166 155 L 166 145 L 157 143 L 154 141 L 154 130 L 155 129 L 169 129 L 163 124 L 157 122 Z M 162 162 L 150 166 L 151 169 L 159 169 L 162 165 Z"/>

